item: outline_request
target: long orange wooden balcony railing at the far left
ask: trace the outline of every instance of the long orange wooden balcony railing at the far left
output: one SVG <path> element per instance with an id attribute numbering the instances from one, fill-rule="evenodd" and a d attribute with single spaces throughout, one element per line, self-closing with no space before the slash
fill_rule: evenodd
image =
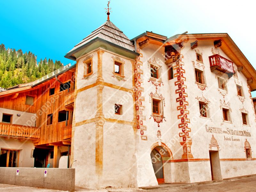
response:
<path id="1" fill-rule="evenodd" d="M 37 127 L 0 123 L 0 136 L 40 139 L 40 129 Z"/>

